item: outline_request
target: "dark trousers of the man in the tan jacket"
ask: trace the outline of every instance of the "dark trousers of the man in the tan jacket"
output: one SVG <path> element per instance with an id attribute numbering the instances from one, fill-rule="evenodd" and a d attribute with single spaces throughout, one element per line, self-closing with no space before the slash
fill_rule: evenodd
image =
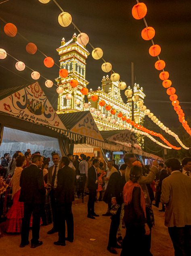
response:
<path id="1" fill-rule="evenodd" d="M 174 246 L 175 256 L 191 255 L 191 225 L 182 228 L 168 228 L 168 233 Z"/>

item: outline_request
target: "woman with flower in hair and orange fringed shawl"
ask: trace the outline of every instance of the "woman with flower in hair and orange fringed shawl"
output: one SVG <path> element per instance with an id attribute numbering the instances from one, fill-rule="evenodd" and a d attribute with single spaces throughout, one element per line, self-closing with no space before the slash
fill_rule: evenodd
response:
<path id="1" fill-rule="evenodd" d="M 144 237 L 150 234 L 150 228 L 146 218 L 145 196 L 139 185 L 142 174 L 142 164 L 135 161 L 130 170 L 130 181 L 125 184 L 123 190 L 126 235 L 121 256 L 147 255 Z"/>

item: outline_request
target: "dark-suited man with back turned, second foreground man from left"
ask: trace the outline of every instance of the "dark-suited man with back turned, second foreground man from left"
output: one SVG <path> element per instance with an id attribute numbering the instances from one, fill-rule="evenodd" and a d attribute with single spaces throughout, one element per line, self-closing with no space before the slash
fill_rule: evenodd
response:
<path id="1" fill-rule="evenodd" d="M 65 246 L 65 240 L 73 242 L 73 214 L 71 210 L 74 201 L 74 183 L 76 173 L 69 167 L 69 158 L 62 157 L 61 169 L 58 171 L 57 188 L 55 191 L 57 216 L 59 218 L 59 240 L 55 245 Z M 67 224 L 67 237 L 65 238 L 65 221 Z"/>

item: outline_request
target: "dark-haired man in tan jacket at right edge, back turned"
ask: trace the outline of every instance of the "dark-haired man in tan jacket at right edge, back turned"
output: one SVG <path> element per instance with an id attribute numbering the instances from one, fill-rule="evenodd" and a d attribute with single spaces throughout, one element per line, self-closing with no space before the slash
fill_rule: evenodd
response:
<path id="1" fill-rule="evenodd" d="M 179 170 L 176 158 L 165 162 L 170 173 L 162 181 L 161 202 L 166 204 L 165 226 L 174 246 L 174 255 L 191 255 L 191 179 Z"/>

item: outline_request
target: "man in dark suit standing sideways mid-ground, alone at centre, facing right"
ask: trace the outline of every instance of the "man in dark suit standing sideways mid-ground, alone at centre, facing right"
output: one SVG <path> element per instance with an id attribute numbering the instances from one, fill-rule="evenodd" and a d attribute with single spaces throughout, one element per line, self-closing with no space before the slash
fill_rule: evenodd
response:
<path id="1" fill-rule="evenodd" d="M 98 181 L 97 179 L 97 167 L 99 166 L 99 160 L 94 159 L 92 166 L 88 170 L 88 189 L 89 189 L 89 199 L 88 199 L 88 218 L 95 219 L 95 217 L 99 217 L 94 212 L 94 202 L 96 200 L 97 195 L 97 187 L 98 187 Z"/>

